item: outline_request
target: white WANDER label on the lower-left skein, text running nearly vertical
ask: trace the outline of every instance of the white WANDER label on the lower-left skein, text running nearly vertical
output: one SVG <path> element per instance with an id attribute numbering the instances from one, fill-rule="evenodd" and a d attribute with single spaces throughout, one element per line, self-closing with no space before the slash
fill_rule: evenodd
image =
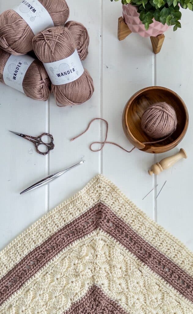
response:
<path id="1" fill-rule="evenodd" d="M 3 70 L 4 83 L 24 93 L 23 79 L 29 66 L 32 64 L 32 62 L 34 62 L 34 60 L 34 58 L 28 55 L 11 55 L 6 62 L 5 68 Z"/>

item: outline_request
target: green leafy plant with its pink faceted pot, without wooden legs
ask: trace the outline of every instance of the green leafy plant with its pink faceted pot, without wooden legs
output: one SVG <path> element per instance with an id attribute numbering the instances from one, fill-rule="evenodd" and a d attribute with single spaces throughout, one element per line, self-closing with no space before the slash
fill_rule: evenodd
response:
<path id="1" fill-rule="evenodd" d="M 180 7 L 193 11 L 193 0 L 122 0 L 122 4 L 125 23 L 143 37 L 163 34 L 170 26 L 174 31 L 180 28 Z"/>

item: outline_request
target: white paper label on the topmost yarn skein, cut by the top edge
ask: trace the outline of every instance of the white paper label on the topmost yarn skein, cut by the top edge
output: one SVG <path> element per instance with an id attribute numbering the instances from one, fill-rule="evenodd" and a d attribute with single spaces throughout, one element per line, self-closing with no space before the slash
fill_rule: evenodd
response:
<path id="1" fill-rule="evenodd" d="M 34 35 L 54 26 L 50 14 L 38 0 L 22 0 L 13 10 L 25 20 Z"/>

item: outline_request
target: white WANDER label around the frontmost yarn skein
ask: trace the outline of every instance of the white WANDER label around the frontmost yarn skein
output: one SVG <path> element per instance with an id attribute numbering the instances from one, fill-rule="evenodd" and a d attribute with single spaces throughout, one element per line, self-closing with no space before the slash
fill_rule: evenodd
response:
<path id="1" fill-rule="evenodd" d="M 44 67 L 52 84 L 63 85 L 76 81 L 84 73 L 81 59 L 77 50 L 65 59 L 44 63 Z"/>

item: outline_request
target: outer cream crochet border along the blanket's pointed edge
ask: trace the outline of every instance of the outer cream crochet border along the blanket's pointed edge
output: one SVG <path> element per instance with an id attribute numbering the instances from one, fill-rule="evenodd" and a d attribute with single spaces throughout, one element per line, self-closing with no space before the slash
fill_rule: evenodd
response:
<path id="1" fill-rule="evenodd" d="M 0 252 L 0 279 L 56 231 L 102 202 L 144 240 L 193 276 L 193 253 L 137 208 L 104 176 L 94 177 L 80 192 L 44 215 Z"/>

